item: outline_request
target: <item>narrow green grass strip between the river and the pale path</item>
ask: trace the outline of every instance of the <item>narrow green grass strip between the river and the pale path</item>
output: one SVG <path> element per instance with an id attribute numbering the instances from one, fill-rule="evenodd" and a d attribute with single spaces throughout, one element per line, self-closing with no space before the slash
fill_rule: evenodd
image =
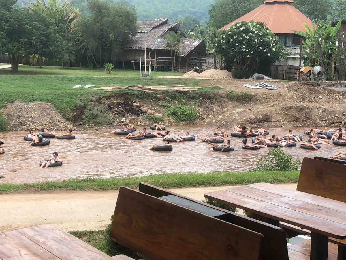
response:
<path id="1" fill-rule="evenodd" d="M 23 190 L 117 190 L 121 186 L 137 188 L 146 182 L 161 188 L 183 188 L 199 186 L 246 185 L 257 182 L 297 182 L 299 172 L 210 172 L 210 173 L 164 173 L 148 176 L 111 179 L 69 179 L 62 182 L 0 184 L 0 193 Z"/>

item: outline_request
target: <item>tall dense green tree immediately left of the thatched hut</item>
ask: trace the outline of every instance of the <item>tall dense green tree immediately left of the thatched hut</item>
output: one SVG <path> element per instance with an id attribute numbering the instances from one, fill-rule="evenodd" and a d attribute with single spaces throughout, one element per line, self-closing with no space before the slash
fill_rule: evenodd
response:
<path id="1" fill-rule="evenodd" d="M 84 46 L 98 68 L 114 60 L 136 33 L 136 10 L 124 3 L 89 0 L 90 17 L 81 19 Z"/>

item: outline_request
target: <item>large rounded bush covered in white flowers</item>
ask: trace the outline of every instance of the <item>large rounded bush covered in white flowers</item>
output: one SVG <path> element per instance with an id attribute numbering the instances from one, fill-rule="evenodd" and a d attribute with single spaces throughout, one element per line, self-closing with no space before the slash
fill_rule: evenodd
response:
<path id="1" fill-rule="evenodd" d="M 221 31 L 214 40 L 216 54 L 231 61 L 237 70 L 257 71 L 260 61 L 270 65 L 284 58 L 284 47 L 264 23 L 239 21 L 226 31 Z"/>

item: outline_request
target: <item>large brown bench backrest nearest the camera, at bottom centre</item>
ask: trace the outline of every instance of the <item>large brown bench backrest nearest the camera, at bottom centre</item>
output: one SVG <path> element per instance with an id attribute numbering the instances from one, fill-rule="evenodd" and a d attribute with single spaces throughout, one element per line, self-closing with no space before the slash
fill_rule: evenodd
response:
<path id="1" fill-rule="evenodd" d="M 263 235 L 121 187 L 110 237 L 152 260 L 260 259 Z"/>

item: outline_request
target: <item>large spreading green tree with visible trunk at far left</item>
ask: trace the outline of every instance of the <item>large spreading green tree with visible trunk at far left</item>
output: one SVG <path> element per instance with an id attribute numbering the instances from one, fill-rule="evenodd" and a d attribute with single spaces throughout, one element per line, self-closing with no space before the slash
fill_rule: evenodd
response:
<path id="1" fill-rule="evenodd" d="M 63 40 L 56 27 L 41 12 L 14 6 L 16 0 L 0 0 L 0 50 L 11 59 L 11 72 L 27 55 L 54 58 L 62 53 Z"/>

